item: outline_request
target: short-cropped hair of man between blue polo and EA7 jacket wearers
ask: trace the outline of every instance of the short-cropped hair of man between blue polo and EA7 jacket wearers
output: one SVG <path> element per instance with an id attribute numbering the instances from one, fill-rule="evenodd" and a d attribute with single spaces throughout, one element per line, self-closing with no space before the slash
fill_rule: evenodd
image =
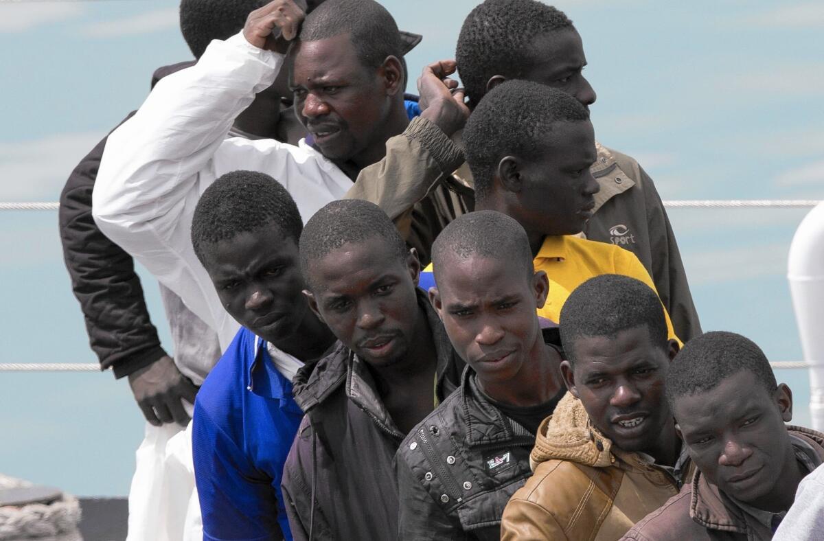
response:
<path id="1" fill-rule="evenodd" d="M 309 289 L 311 264 L 332 250 L 349 243 L 382 239 L 393 256 L 405 262 L 409 250 L 395 224 L 375 203 L 361 199 L 339 199 L 328 203 L 309 219 L 300 240 L 301 269 Z"/>

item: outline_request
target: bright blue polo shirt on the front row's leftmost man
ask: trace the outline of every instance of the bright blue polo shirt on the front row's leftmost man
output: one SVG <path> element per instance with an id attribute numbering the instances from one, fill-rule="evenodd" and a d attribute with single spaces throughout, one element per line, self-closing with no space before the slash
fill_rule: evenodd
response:
<path id="1" fill-rule="evenodd" d="M 194 401 L 194 480 L 205 540 L 283 532 L 291 541 L 280 481 L 302 417 L 265 341 L 241 328 Z"/>

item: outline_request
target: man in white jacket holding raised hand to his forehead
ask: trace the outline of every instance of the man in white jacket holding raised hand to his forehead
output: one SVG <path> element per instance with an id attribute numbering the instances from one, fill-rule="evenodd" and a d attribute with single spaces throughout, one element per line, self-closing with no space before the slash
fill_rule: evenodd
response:
<path id="1" fill-rule="evenodd" d="M 303 18 L 292 0 L 274 0 L 250 14 L 241 34 L 214 40 L 195 66 L 166 77 L 111 134 L 94 190 L 101 231 L 217 330 L 224 348 L 237 323 L 223 310 L 188 238 L 194 205 L 218 176 L 236 169 L 265 172 L 308 217 L 342 197 L 361 169 L 381 162 L 391 138 L 414 140 L 424 170 L 436 178 L 461 161 L 460 152 L 439 143 L 464 119 L 443 86 L 438 90 L 445 95 L 425 100 L 421 118 L 407 119 L 400 60 L 406 49 L 383 7 L 372 0 L 327 0 Z M 272 84 L 296 36 L 291 86 L 311 144 L 224 140 L 255 92 Z"/>

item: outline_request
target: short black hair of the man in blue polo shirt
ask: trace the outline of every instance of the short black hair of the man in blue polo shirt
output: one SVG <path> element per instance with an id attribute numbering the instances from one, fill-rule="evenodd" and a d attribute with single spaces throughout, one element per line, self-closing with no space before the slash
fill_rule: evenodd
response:
<path id="1" fill-rule="evenodd" d="M 237 170 L 221 175 L 200 196 L 192 217 L 192 247 L 200 263 L 221 240 L 276 225 L 297 241 L 303 229 L 292 196 L 269 175 Z"/>

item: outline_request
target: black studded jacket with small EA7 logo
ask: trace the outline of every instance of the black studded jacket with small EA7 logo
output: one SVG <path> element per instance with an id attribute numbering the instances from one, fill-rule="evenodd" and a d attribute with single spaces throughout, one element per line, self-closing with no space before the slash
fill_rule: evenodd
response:
<path id="1" fill-rule="evenodd" d="M 560 351 L 557 326 L 543 335 Z M 396 455 L 398 539 L 500 539 L 503 508 L 531 473 L 533 445 L 535 435 L 485 398 L 467 366 L 461 389 L 414 427 Z"/>

